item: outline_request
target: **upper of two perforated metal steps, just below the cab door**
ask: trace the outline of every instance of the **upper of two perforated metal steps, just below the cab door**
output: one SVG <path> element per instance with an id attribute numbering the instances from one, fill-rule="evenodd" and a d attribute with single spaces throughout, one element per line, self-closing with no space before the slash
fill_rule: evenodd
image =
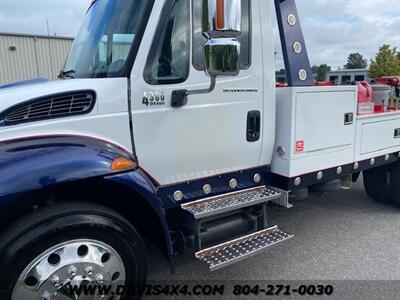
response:
<path id="1" fill-rule="evenodd" d="M 195 219 L 202 219 L 212 215 L 268 202 L 281 197 L 281 193 L 266 186 L 251 188 L 243 191 L 205 198 L 198 201 L 182 204 Z"/>

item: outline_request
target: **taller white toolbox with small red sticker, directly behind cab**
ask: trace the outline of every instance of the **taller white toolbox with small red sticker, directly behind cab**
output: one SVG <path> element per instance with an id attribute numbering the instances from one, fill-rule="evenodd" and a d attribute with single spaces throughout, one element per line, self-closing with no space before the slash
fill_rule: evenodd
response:
<path id="1" fill-rule="evenodd" d="M 354 161 L 357 87 L 277 89 L 272 172 L 294 177 Z"/>

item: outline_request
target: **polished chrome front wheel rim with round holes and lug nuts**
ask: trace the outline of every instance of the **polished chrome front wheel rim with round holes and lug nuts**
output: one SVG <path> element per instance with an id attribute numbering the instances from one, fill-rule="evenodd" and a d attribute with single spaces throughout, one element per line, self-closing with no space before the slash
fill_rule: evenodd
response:
<path id="1" fill-rule="evenodd" d="M 117 300 L 118 285 L 125 283 L 124 263 L 115 249 L 96 240 L 72 240 L 36 257 L 21 273 L 12 300 Z M 72 287 L 111 286 L 107 295 L 71 294 Z"/>

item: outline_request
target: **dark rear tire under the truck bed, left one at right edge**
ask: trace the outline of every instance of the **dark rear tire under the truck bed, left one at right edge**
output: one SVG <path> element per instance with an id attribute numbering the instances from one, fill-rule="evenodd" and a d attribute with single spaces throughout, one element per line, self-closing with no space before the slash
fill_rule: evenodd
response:
<path id="1" fill-rule="evenodd" d="M 391 165 L 363 172 L 364 188 L 368 196 L 380 203 L 391 203 Z"/>

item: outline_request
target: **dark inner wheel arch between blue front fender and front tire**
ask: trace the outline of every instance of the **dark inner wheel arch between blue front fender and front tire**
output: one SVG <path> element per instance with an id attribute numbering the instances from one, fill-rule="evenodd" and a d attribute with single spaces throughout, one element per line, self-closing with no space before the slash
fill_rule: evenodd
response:
<path id="1" fill-rule="evenodd" d="M 143 186 L 144 182 L 150 184 L 147 181 L 143 172 L 137 169 L 129 173 L 88 178 L 34 190 L 16 197 L 2 207 L 0 226 L 4 230 L 31 211 L 57 203 L 96 203 L 122 215 L 172 263 L 172 241 L 164 210 L 155 189 L 150 193 L 152 187 Z M 146 192 L 149 194 L 145 195 Z"/>

